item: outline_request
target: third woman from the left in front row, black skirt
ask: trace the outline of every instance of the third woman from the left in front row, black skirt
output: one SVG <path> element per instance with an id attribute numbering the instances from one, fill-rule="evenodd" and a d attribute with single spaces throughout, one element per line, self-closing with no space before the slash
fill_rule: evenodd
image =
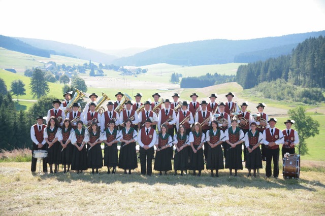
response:
<path id="1" fill-rule="evenodd" d="M 71 142 L 74 145 L 72 154 L 71 170 L 77 170 L 77 173 L 82 173 L 83 170 L 88 169 L 87 164 L 87 149 L 85 147 L 85 128 L 83 122 L 77 122 L 77 128 L 75 129 L 75 136 L 72 137 Z"/>

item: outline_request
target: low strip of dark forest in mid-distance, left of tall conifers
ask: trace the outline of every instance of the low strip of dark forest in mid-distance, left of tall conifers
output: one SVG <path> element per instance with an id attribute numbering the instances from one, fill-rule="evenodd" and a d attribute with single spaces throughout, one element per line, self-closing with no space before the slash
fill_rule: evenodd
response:
<path id="1" fill-rule="evenodd" d="M 185 77 L 182 78 L 180 87 L 181 88 L 203 88 L 207 86 L 213 86 L 222 83 L 235 82 L 235 75 L 220 75 L 210 73 L 200 77 Z"/>

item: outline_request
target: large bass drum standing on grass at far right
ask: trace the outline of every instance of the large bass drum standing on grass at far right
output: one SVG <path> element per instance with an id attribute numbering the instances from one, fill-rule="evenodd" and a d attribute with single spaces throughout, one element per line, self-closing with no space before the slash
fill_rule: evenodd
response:
<path id="1" fill-rule="evenodd" d="M 283 178 L 298 179 L 300 174 L 300 155 L 284 154 L 282 168 Z"/>

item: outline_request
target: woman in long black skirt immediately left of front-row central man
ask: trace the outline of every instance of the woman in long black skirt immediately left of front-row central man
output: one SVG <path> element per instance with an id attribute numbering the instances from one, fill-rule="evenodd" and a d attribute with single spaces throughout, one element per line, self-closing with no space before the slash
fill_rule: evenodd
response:
<path id="1" fill-rule="evenodd" d="M 121 141 L 121 150 L 118 158 L 118 167 L 124 169 L 124 174 L 131 174 L 131 169 L 138 167 L 136 141 L 138 140 L 137 131 L 131 127 L 132 121 L 125 120 L 125 127 L 120 130 L 119 141 Z"/>

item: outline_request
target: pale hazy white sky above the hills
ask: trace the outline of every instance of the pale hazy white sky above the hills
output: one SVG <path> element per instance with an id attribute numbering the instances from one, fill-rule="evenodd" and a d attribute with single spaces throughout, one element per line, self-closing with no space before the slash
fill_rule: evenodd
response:
<path id="1" fill-rule="evenodd" d="M 0 0 L 0 34 L 94 49 L 325 30 L 325 0 Z"/>

